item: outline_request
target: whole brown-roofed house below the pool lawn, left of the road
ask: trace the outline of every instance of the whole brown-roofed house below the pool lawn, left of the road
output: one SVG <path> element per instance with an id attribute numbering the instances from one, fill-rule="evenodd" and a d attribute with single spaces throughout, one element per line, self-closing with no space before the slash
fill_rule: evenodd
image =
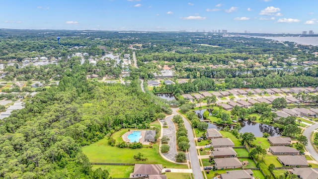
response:
<path id="1" fill-rule="evenodd" d="M 161 164 L 135 164 L 134 172 L 130 178 L 145 178 L 151 175 L 161 175 Z"/>

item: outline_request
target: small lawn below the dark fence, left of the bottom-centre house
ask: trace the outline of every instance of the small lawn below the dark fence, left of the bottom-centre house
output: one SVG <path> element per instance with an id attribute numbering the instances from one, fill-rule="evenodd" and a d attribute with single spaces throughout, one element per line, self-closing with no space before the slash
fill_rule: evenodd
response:
<path id="1" fill-rule="evenodd" d="M 129 178 L 129 175 L 134 171 L 134 166 L 92 166 L 93 170 L 98 168 L 101 168 L 102 170 L 107 170 L 109 172 L 109 176 L 111 176 L 112 178 Z"/>

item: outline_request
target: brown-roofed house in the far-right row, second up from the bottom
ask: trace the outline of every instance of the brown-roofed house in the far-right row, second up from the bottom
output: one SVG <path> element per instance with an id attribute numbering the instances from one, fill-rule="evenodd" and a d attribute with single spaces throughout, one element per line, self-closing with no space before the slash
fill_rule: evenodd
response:
<path id="1" fill-rule="evenodd" d="M 278 161 L 284 166 L 284 167 L 308 167 L 308 163 L 305 156 L 278 156 Z"/>

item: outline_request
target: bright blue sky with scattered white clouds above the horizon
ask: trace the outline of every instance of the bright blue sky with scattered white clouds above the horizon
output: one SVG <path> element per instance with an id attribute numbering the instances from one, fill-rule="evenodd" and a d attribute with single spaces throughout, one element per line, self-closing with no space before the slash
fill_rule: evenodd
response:
<path id="1" fill-rule="evenodd" d="M 318 33 L 318 0 L 1 0 L 0 28 Z"/>

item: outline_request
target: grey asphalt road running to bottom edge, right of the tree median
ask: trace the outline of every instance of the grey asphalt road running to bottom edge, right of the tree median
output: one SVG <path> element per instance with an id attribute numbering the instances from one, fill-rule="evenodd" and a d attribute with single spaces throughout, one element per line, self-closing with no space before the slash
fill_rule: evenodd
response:
<path id="1" fill-rule="evenodd" d="M 179 108 L 172 108 L 172 114 L 178 114 L 176 110 Z M 190 143 L 190 149 L 188 153 L 188 160 L 191 162 L 191 169 L 192 169 L 192 174 L 194 176 L 194 179 L 204 179 L 201 168 L 200 168 L 200 163 L 199 163 L 199 158 L 195 146 L 195 141 L 194 141 L 194 136 L 192 132 L 192 127 L 189 121 L 182 116 L 182 119 L 184 121 L 184 126 L 188 130 L 188 139 Z"/>

